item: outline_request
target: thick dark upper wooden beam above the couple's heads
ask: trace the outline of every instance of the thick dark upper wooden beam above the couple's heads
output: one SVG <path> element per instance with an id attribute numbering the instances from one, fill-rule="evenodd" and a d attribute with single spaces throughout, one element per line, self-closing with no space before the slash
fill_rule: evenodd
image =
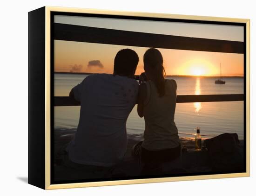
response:
<path id="1" fill-rule="evenodd" d="M 54 23 L 54 39 L 98 44 L 243 54 L 243 42 Z"/>

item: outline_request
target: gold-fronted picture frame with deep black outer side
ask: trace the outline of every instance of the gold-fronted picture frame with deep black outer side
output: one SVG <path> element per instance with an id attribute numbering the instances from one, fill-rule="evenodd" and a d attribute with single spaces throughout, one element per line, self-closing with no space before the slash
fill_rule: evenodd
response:
<path id="1" fill-rule="evenodd" d="M 224 173 L 224 174 L 209 174 L 209 175 L 195 175 L 195 176 L 179 176 L 179 177 L 158 177 L 158 178 L 143 178 L 143 179 L 124 179 L 112 181 L 97 181 L 97 182 L 79 182 L 79 183 L 51 183 L 51 13 L 87 13 L 87 14 L 103 14 L 114 16 L 126 17 L 147 17 L 159 19 L 178 19 L 189 21 L 201 22 L 227 22 L 227 23 L 241 23 L 246 28 L 246 35 L 244 35 L 245 43 L 245 60 L 246 60 L 246 125 L 245 138 L 246 139 L 246 171 L 241 173 Z M 40 25 L 44 30 L 39 38 L 35 32 L 35 28 Z M 38 41 L 39 40 L 39 41 Z M 37 44 L 35 44 L 37 43 Z M 39 44 L 38 44 L 39 43 Z M 40 48 L 41 47 L 41 48 Z M 185 181 L 185 180 L 201 180 L 201 179 L 215 179 L 215 178 L 228 178 L 228 177 L 249 177 L 250 175 L 250 133 L 249 133 L 249 116 L 250 116 L 250 20 L 249 19 L 235 19 L 235 18 L 221 18 L 221 17 L 207 17 L 207 16 L 191 16 L 191 15 L 177 15 L 166 13 L 139 13 L 139 12 L 121 12 L 110 10 L 98 9 L 84 9 L 84 8 L 67 8 L 67 7 L 52 7 L 45 6 L 38 10 L 29 13 L 29 176 L 28 183 L 38 186 L 45 190 L 52 189 L 65 189 L 65 188 L 79 188 L 79 187 L 92 187 L 92 186 L 108 186 L 108 185 L 121 185 L 121 184 L 136 184 L 136 183 L 158 183 L 158 182 L 172 182 L 172 181 Z M 40 53 L 40 57 L 38 57 Z M 35 64 L 37 63 L 37 65 Z M 39 63 L 39 64 L 38 64 Z M 40 68 L 39 68 L 40 67 Z M 40 69 L 40 70 L 38 70 Z M 43 71 L 43 76 L 38 77 L 38 74 Z M 38 82 L 36 85 L 40 89 L 37 94 L 35 88 L 31 86 L 33 82 Z M 40 87 L 40 85 L 44 85 Z M 44 96 L 40 103 L 35 101 Z M 37 110 L 36 107 L 40 108 Z M 35 108 L 35 109 L 33 109 Z M 43 113 L 40 119 L 36 119 L 36 114 Z M 38 129 L 39 134 L 35 134 L 36 125 L 42 127 Z M 35 144 L 38 143 L 36 146 Z M 40 153 L 39 153 L 40 152 Z M 41 163 L 43 162 L 43 163 Z"/>

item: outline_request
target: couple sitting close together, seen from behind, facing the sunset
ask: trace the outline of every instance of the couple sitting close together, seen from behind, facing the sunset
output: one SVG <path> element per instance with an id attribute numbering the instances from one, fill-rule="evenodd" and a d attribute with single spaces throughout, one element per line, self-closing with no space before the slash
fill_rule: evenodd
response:
<path id="1" fill-rule="evenodd" d="M 66 148 L 71 162 L 101 171 L 121 163 L 127 150 L 126 121 L 136 103 L 145 119 L 144 140 L 134 146 L 143 170 L 179 156 L 176 82 L 164 78 L 157 49 L 144 54 L 145 74 L 139 83 L 134 79 L 138 62 L 135 51 L 123 49 L 115 56 L 113 75 L 87 76 L 71 90 L 69 96 L 81 102 L 77 132 Z"/>

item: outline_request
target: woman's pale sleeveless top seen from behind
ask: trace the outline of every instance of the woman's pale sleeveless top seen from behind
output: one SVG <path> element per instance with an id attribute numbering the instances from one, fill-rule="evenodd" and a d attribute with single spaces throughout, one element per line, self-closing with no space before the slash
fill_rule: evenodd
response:
<path id="1" fill-rule="evenodd" d="M 174 122 L 177 84 L 175 80 L 165 79 L 165 95 L 162 97 L 159 97 L 154 82 L 148 81 L 146 86 L 142 147 L 153 151 L 175 148 L 180 144 L 178 129 Z"/>

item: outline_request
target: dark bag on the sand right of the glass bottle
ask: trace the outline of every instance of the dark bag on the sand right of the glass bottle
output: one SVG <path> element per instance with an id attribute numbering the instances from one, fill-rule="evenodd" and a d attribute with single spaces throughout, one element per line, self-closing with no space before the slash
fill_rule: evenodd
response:
<path id="1" fill-rule="evenodd" d="M 223 133 L 204 141 L 209 152 L 212 171 L 242 171 L 243 145 L 236 133 Z"/>

